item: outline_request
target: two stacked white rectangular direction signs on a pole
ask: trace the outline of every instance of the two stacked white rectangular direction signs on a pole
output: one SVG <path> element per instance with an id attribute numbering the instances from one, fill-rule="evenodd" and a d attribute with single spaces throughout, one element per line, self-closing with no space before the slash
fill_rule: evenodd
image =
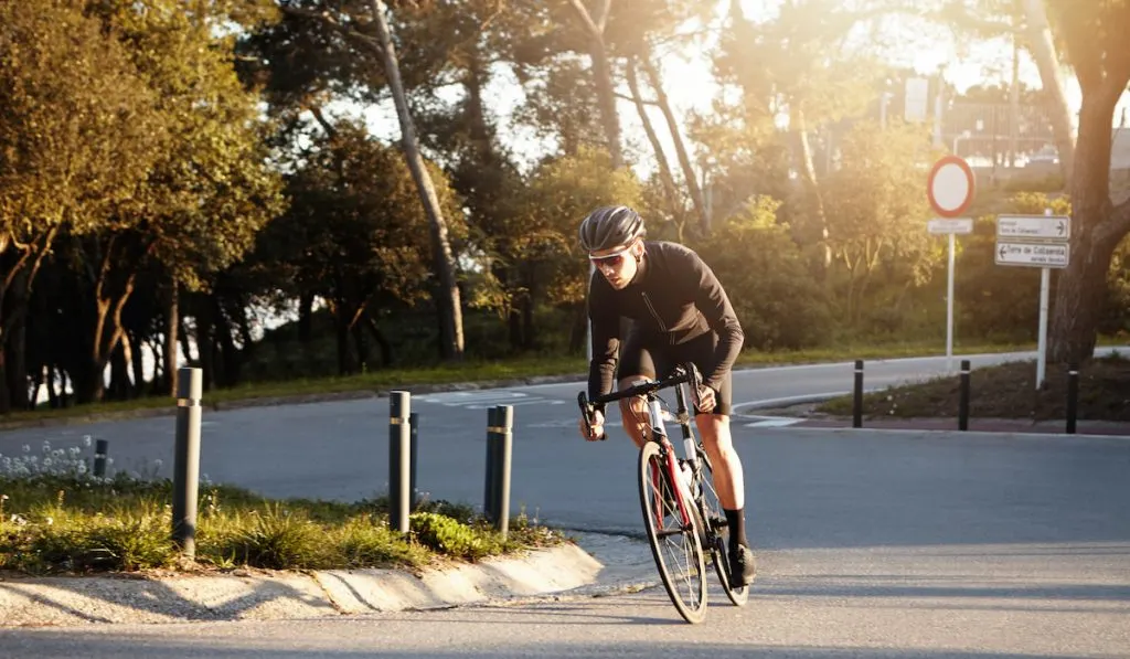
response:
<path id="1" fill-rule="evenodd" d="M 1071 218 L 1052 215 L 997 216 L 998 266 L 1040 268 L 1040 337 L 1036 347 L 1036 389 L 1044 383 L 1048 352 L 1048 297 L 1051 269 L 1067 268 L 1071 262 Z"/>

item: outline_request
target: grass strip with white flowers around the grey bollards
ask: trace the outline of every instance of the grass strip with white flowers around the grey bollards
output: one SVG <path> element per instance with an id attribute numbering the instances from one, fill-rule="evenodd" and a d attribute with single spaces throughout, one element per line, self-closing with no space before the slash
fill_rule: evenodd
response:
<path id="1" fill-rule="evenodd" d="M 564 536 L 524 513 L 503 537 L 468 505 L 420 502 L 410 532 L 389 527 L 385 497 L 341 503 L 267 500 L 202 483 L 197 562 L 181 565 L 171 539 L 172 483 L 89 475 L 72 450 L 0 457 L 0 570 L 88 574 L 160 569 L 418 570 L 442 560 L 479 561 Z"/>

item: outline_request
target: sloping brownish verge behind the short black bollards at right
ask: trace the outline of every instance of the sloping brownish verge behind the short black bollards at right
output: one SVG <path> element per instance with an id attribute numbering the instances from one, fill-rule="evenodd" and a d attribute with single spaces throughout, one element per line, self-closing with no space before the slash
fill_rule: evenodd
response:
<path id="1" fill-rule="evenodd" d="M 974 418 L 1061 419 L 1067 416 L 1067 370 L 1050 364 L 1044 387 L 1036 390 L 1034 359 L 1009 362 L 970 372 L 970 416 Z M 957 417 L 958 375 L 916 384 L 890 387 L 863 396 L 868 418 Z M 852 414 L 852 397 L 828 400 L 815 411 Z M 1130 420 L 1130 359 L 1114 354 L 1092 359 L 1079 368 L 1078 418 Z"/>

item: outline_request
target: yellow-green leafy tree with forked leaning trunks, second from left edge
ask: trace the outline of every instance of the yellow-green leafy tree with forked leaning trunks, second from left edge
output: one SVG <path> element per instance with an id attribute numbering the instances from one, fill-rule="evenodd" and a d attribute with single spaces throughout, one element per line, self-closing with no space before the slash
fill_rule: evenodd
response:
<path id="1" fill-rule="evenodd" d="M 174 141 L 157 154 L 132 206 L 78 236 L 78 272 L 95 305 L 89 365 L 76 374 L 80 401 L 102 397 L 102 373 L 125 336 L 122 313 L 140 272 L 156 261 L 173 291 L 202 288 L 242 258 L 281 208 L 278 175 L 266 163 L 258 95 L 243 88 L 232 66 L 234 38 L 216 36 L 226 15 L 182 9 L 182 0 L 99 6 L 159 95 L 158 112 Z M 171 337 L 175 317 L 166 315 Z M 169 353 L 166 366 L 173 364 Z M 167 374 L 175 385 L 174 371 Z"/>

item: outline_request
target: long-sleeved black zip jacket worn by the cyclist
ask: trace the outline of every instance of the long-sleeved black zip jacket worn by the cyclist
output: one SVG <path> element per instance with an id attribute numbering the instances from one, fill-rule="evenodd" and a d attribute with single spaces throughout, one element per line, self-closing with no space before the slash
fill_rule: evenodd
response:
<path id="1" fill-rule="evenodd" d="M 623 291 L 593 272 L 589 281 L 592 362 L 589 396 L 612 390 L 620 337 L 620 317 L 632 319 L 633 332 L 645 344 L 679 345 L 710 331 L 719 336 L 713 364 L 698 364 L 706 384 L 719 389 L 733 366 L 745 335 L 718 277 L 694 251 L 677 243 L 644 241 L 644 269 Z M 657 375 L 662 375 L 657 373 Z"/>

